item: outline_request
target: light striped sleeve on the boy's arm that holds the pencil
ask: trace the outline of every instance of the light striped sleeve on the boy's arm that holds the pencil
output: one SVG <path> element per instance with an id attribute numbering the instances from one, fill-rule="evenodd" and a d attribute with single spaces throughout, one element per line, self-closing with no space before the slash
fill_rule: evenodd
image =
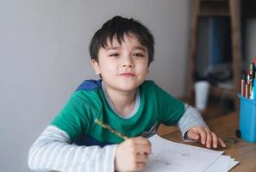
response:
<path id="1" fill-rule="evenodd" d="M 78 146 L 66 132 L 47 126 L 28 152 L 28 166 L 36 171 L 114 171 L 116 144 Z"/>

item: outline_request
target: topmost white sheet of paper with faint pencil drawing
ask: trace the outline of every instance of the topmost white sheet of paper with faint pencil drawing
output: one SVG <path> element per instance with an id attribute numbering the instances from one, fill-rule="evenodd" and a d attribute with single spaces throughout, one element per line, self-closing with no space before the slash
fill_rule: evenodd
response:
<path id="1" fill-rule="evenodd" d="M 153 155 L 144 171 L 200 172 L 221 157 L 223 151 L 212 151 L 197 146 L 178 144 L 158 135 L 149 138 Z"/>

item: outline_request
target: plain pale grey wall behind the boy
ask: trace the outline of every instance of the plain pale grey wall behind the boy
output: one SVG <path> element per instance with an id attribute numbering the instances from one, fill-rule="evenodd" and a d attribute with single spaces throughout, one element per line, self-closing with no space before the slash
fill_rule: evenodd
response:
<path id="1" fill-rule="evenodd" d="M 92 34 L 113 15 L 155 36 L 150 78 L 184 95 L 188 0 L 9 0 L 0 3 L 0 170 L 29 171 L 28 148 L 85 78 Z"/>

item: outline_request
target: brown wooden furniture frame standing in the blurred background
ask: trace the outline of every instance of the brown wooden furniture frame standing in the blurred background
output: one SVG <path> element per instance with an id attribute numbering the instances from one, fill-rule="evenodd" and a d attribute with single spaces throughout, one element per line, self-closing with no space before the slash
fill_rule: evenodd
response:
<path id="1" fill-rule="evenodd" d="M 188 97 L 194 100 L 194 74 L 196 71 L 197 58 L 197 37 L 198 18 L 200 16 L 220 16 L 226 15 L 231 21 L 231 41 L 232 41 L 232 68 L 234 89 L 223 89 L 211 85 L 209 95 L 220 97 L 225 93 L 229 99 L 235 102 L 235 110 L 239 109 L 239 99 L 237 93 L 240 92 L 241 78 L 241 36 L 240 36 L 240 0 L 193 0 L 192 14 L 190 15 L 190 52 L 189 52 L 189 77 Z"/>

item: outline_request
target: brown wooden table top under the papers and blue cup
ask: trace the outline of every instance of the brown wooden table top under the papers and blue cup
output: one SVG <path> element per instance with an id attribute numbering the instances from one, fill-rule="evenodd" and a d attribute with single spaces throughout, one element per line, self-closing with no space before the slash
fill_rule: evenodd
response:
<path id="1" fill-rule="evenodd" d="M 207 121 L 208 126 L 224 141 L 227 138 L 235 138 L 236 143 L 225 142 L 227 148 L 216 149 L 216 151 L 225 151 L 224 155 L 234 157 L 239 161 L 236 166 L 230 171 L 232 172 L 256 172 L 256 143 L 247 143 L 241 138 L 236 138 L 235 130 L 239 128 L 239 114 L 227 114 L 214 120 Z M 172 132 L 162 136 L 163 138 L 170 139 L 174 142 L 184 143 L 180 132 Z M 203 147 L 200 143 L 184 143 Z"/>

